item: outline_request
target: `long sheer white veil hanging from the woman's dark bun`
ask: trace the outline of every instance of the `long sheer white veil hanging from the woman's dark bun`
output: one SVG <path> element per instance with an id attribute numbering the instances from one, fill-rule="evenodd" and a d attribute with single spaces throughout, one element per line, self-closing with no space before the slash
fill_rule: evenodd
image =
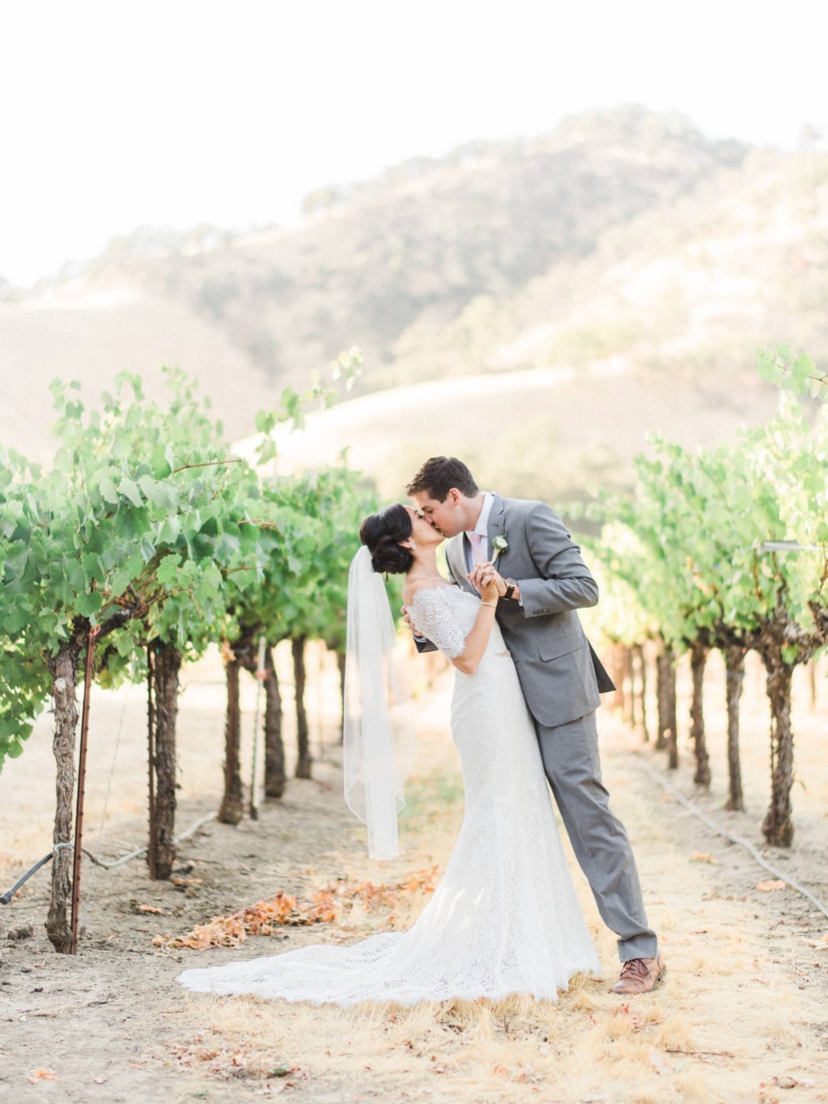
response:
<path id="1" fill-rule="evenodd" d="M 368 826 L 372 859 L 400 853 L 396 815 L 415 751 L 395 639 L 382 575 L 362 544 L 348 573 L 343 768 L 346 800 Z"/>

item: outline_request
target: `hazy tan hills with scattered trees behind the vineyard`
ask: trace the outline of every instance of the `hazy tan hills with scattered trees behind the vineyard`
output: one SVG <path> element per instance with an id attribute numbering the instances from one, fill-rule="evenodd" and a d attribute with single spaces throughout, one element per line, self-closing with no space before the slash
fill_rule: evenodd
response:
<path id="1" fill-rule="evenodd" d="M 161 362 L 243 438 L 359 344 L 354 397 L 284 463 L 352 444 L 389 491 L 438 452 L 506 492 L 623 485 L 648 428 L 691 444 L 767 416 L 758 344 L 828 350 L 827 181 L 825 157 L 629 107 L 319 189 L 296 229 L 144 230 L 0 304 L 0 439 L 49 452 L 55 374 L 88 400 L 129 368 L 152 393 Z"/>

